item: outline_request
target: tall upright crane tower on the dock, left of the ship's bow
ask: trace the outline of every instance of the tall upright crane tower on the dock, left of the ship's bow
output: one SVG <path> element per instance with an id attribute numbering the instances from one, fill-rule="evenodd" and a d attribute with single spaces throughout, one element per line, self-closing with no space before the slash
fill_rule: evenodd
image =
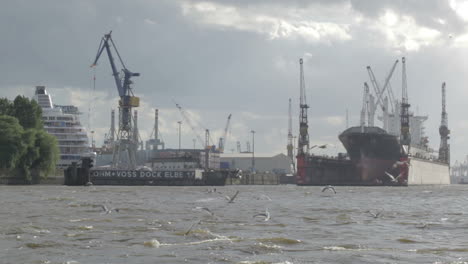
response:
<path id="1" fill-rule="evenodd" d="M 299 59 L 300 65 L 300 116 L 299 116 L 299 141 L 298 141 L 298 155 L 305 155 L 309 151 L 309 125 L 307 121 L 307 105 L 304 81 L 304 67 L 302 58 Z"/>

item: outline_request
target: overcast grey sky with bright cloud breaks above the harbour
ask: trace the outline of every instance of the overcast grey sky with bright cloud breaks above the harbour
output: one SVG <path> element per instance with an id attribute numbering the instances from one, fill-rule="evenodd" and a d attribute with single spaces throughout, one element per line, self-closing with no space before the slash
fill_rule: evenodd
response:
<path id="1" fill-rule="evenodd" d="M 101 37 L 113 39 L 141 97 L 143 140 L 160 109 L 161 135 L 177 148 L 174 101 L 204 138 L 217 141 L 232 113 L 227 152 L 251 141 L 255 151 L 286 153 L 288 99 L 298 131 L 299 58 L 304 58 L 311 145 L 330 143 L 357 125 L 366 66 L 383 83 L 406 57 L 412 111 L 428 115 L 426 133 L 438 149 L 441 83 L 447 83 L 452 162 L 468 154 L 468 1 L 461 0 L 17 0 L 0 9 L 0 95 L 32 96 L 45 85 L 56 104 L 74 104 L 102 144 L 117 89 L 108 59 L 93 62 Z M 392 78 L 401 97 L 401 65 Z M 92 79 L 96 74 L 93 91 Z M 88 114 L 91 110 L 90 114 Z M 380 125 L 379 121 L 376 121 Z M 182 147 L 193 147 L 182 124 Z M 314 150 L 317 153 L 322 150 Z"/>

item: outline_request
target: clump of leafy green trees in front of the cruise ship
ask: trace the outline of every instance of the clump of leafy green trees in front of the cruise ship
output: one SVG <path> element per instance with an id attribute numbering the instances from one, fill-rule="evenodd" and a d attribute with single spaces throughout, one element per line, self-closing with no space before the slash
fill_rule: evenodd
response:
<path id="1" fill-rule="evenodd" d="M 42 109 L 36 101 L 18 95 L 0 98 L 0 169 L 28 183 L 38 183 L 55 172 L 59 149 L 44 130 Z"/>

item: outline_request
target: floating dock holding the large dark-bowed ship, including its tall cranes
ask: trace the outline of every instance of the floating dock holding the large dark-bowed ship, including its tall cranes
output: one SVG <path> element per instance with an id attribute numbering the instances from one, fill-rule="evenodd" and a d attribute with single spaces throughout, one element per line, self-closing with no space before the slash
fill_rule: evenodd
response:
<path id="1" fill-rule="evenodd" d="M 298 185 L 365 185 L 408 186 L 450 184 L 450 130 L 445 104 L 445 83 L 442 84 L 442 116 L 439 127 L 441 144 L 438 155 L 428 146 L 424 135 L 427 116 L 410 112 L 406 83 L 406 64 L 402 58 L 402 98 L 394 99 L 390 74 L 380 86 L 371 67 L 367 67 L 374 93 L 364 83 L 360 124 L 339 134 L 347 153 L 337 157 L 313 155 L 309 152 L 309 127 L 305 98 L 305 81 L 300 60 L 300 117 L 297 159 Z M 383 127 L 374 124 L 376 110 Z"/>

